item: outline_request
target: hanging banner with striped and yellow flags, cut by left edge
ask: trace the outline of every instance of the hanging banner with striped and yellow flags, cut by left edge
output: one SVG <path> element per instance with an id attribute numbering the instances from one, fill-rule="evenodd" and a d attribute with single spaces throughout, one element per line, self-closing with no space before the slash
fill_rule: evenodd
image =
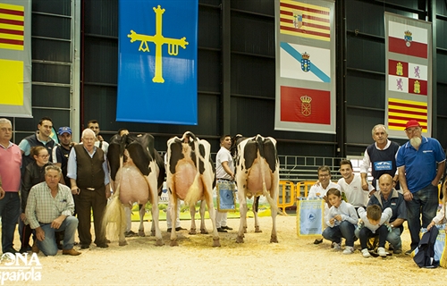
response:
<path id="1" fill-rule="evenodd" d="M 31 0 L 0 0 L 0 116 L 32 117 Z"/>

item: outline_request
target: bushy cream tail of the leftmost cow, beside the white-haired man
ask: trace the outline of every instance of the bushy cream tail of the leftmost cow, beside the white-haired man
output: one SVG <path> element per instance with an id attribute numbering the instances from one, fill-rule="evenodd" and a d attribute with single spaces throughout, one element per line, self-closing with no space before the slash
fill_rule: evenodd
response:
<path id="1" fill-rule="evenodd" d="M 120 158 L 120 165 L 122 166 L 122 158 Z M 102 222 L 102 230 L 107 234 L 107 238 L 116 239 L 126 227 L 126 215 L 124 206 L 120 201 L 121 178 L 114 189 L 114 196 L 110 199 L 105 207 L 105 213 Z"/>

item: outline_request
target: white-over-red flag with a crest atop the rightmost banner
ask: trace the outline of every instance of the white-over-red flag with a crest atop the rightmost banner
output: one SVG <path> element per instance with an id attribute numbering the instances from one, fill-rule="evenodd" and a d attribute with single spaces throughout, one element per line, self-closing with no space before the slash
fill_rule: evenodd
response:
<path id="1" fill-rule="evenodd" d="M 402 24 L 388 23 L 388 50 L 392 53 L 427 58 L 427 29 Z"/>

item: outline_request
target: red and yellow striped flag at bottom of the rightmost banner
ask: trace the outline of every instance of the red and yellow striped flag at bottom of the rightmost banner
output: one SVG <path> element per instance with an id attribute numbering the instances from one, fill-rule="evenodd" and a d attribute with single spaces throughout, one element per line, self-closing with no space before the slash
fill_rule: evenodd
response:
<path id="1" fill-rule="evenodd" d="M 426 102 L 388 98 L 388 129 L 404 130 L 411 119 L 420 123 L 422 132 L 427 131 Z"/>

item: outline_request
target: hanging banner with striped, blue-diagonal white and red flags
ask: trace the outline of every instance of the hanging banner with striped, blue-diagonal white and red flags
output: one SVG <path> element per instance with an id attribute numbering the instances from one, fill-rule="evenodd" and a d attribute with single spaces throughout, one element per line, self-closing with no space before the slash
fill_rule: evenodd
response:
<path id="1" fill-rule="evenodd" d="M 275 1 L 274 130 L 335 133 L 332 0 Z"/>

